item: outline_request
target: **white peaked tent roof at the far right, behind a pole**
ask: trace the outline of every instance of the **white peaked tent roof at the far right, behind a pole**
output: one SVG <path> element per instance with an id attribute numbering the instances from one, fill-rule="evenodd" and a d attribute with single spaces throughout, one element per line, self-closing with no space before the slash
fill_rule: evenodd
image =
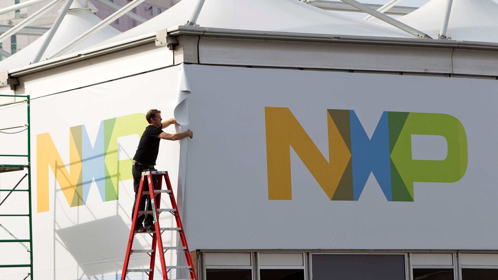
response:
<path id="1" fill-rule="evenodd" d="M 446 1 L 431 0 L 396 19 L 437 38 Z M 385 22 L 374 21 L 388 27 Z M 446 36 L 453 40 L 498 42 L 498 3 L 493 0 L 453 0 Z"/>

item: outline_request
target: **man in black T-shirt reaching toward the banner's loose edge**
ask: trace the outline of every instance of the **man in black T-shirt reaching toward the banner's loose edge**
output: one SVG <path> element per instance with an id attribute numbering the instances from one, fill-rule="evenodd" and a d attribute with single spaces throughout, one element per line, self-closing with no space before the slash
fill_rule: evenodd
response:
<path id="1" fill-rule="evenodd" d="M 142 176 L 143 170 L 153 169 L 156 164 L 157 153 L 159 152 L 159 141 L 161 139 L 165 140 L 180 140 L 185 137 L 193 137 L 193 133 L 189 130 L 187 132 L 180 132 L 175 134 L 169 134 L 162 131 L 162 129 L 167 128 L 169 125 L 177 124 L 174 118 L 169 119 L 165 122 L 161 122 L 161 111 L 156 109 L 151 109 L 145 115 L 149 126 L 145 128 L 145 131 L 138 142 L 138 147 L 136 149 L 135 155 L 133 156 L 133 165 L 131 167 L 131 173 L 133 174 L 133 190 L 135 191 L 135 202 L 133 203 L 133 209 L 131 212 L 131 218 L 133 218 L 133 212 L 135 209 L 136 198 L 138 195 L 138 187 L 140 185 L 140 178 Z M 154 183 L 154 189 L 157 187 L 157 177 L 152 176 L 152 181 Z M 146 182 L 145 182 L 146 183 Z M 144 185 L 146 187 L 146 185 Z M 145 201 L 147 201 L 147 210 L 145 210 Z M 152 206 L 150 205 L 150 196 L 145 195 L 140 200 L 139 211 L 151 211 Z M 150 214 L 139 215 L 137 220 L 137 225 L 135 230 L 138 232 L 155 231 L 153 224 L 153 217 Z M 142 225 L 143 222 L 143 225 Z"/>

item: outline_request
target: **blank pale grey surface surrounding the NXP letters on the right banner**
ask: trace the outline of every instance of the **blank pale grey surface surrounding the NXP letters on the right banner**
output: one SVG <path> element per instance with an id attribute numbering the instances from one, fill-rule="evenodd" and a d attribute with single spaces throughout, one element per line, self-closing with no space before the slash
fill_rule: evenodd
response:
<path id="1" fill-rule="evenodd" d="M 185 71 L 195 135 L 187 162 L 190 249 L 498 250 L 496 81 L 201 65 Z M 291 199 L 269 199 L 265 107 L 288 108 L 332 161 L 328 109 L 354 110 L 369 138 L 385 111 L 453 116 L 467 139 L 465 174 L 415 181 L 414 201 L 389 201 L 377 171 L 369 171 L 358 199 L 331 200 L 288 146 Z"/>

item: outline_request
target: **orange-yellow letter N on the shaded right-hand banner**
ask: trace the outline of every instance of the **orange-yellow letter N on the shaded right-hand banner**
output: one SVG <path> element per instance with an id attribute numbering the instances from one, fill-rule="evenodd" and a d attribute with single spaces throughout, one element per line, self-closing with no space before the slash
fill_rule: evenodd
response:
<path id="1" fill-rule="evenodd" d="M 332 117 L 328 117 L 329 161 L 301 127 L 289 108 L 265 107 L 268 199 L 291 200 L 290 147 L 332 199 L 351 158 Z"/>

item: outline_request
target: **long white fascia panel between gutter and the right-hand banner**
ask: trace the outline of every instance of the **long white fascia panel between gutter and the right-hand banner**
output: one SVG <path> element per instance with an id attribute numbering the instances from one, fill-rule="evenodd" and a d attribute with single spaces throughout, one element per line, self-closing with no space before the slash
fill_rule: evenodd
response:
<path id="1" fill-rule="evenodd" d="M 202 64 L 451 73 L 451 48 L 201 38 Z"/>

